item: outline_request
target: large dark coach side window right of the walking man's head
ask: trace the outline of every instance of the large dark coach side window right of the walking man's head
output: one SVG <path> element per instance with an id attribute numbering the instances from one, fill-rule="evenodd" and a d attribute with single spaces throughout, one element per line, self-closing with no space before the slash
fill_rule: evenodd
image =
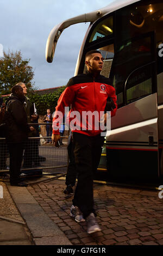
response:
<path id="1" fill-rule="evenodd" d="M 148 80 L 146 79 L 148 77 L 147 74 L 151 74 L 152 72 L 149 72 L 149 68 L 146 65 L 152 61 L 152 35 L 149 33 L 147 33 L 147 35 L 138 36 L 138 38 L 123 41 L 117 47 L 112 63 L 111 77 L 115 84 L 118 107 L 131 103 L 143 95 L 152 93 L 152 82 L 148 81 L 145 83 L 145 81 Z M 134 70 L 140 69 L 142 66 L 144 66 L 141 71 L 142 74 L 135 73 L 135 77 L 133 75 L 132 79 L 129 79 L 126 87 L 128 77 Z M 139 84 L 139 82 L 141 84 Z M 125 87 L 127 89 L 127 94 L 125 92 Z"/>

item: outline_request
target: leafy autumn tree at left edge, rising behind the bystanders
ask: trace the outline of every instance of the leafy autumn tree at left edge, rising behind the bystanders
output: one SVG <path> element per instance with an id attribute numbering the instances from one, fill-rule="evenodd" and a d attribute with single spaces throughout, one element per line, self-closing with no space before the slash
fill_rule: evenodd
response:
<path id="1" fill-rule="evenodd" d="M 32 89 L 34 71 L 32 66 L 29 66 L 30 59 L 22 59 L 20 51 L 3 52 L 4 57 L 0 58 L 0 92 L 10 94 L 12 86 L 16 83 L 23 82 L 28 90 Z"/>

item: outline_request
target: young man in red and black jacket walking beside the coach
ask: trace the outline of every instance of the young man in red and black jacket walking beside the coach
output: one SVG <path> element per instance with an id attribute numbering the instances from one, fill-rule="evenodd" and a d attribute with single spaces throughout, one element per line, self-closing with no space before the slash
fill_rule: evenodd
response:
<path id="1" fill-rule="evenodd" d="M 115 89 L 110 86 L 109 78 L 100 75 L 103 68 L 101 52 L 92 50 L 86 53 L 85 64 L 86 74 L 72 77 L 58 100 L 53 118 L 52 141 L 57 146 L 60 139 L 58 130 L 61 123 L 60 113 L 64 115 L 65 107 L 71 106 L 69 117 L 78 173 L 71 216 L 77 222 L 86 220 L 87 233 L 91 234 L 101 230 L 96 222 L 93 209 L 93 172 L 97 170 L 104 143 L 104 137 L 101 136 L 102 130 L 98 127 L 100 112 L 104 113 L 107 100 L 110 98 L 115 106 L 111 111 L 111 116 L 115 115 L 117 103 Z M 86 117 L 86 114 L 90 113 L 92 119 Z"/>

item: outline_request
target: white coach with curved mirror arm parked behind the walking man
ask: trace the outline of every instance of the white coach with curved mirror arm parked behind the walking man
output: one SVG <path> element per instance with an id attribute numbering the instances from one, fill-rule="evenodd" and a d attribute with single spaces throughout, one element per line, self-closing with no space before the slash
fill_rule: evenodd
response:
<path id="1" fill-rule="evenodd" d="M 102 75 L 116 89 L 118 109 L 106 134 L 101 166 L 109 179 L 160 180 L 163 176 L 163 2 L 121 0 L 55 26 L 46 45 L 52 62 L 65 28 L 90 22 L 74 75 L 87 51 L 102 52 Z"/>

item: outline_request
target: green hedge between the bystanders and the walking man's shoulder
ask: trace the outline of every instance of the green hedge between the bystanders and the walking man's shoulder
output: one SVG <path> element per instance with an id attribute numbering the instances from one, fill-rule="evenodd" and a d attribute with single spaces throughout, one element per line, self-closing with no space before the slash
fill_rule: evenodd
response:
<path id="1" fill-rule="evenodd" d="M 61 93 L 65 90 L 65 86 L 57 89 L 54 93 L 39 95 L 36 93 L 29 93 L 27 96 L 30 101 L 35 103 L 37 113 L 39 115 L 45 115 L 47 108 L 51 109 L 51 113 L 55 111 L 57 102 Z"/>

